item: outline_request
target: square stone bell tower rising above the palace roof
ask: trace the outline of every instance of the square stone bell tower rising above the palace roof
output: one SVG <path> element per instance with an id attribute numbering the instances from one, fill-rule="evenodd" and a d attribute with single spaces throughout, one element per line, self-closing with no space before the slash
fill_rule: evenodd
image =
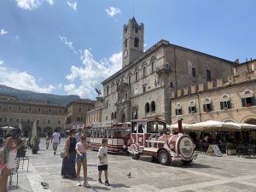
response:
<path id="1" fill-rule="evenodd" d="M 137 24 L 134 17 L 123 29 L 123 62 L 122 67 L 131 64 L 139 55 L 143 54 L 144 24 Z"/>

